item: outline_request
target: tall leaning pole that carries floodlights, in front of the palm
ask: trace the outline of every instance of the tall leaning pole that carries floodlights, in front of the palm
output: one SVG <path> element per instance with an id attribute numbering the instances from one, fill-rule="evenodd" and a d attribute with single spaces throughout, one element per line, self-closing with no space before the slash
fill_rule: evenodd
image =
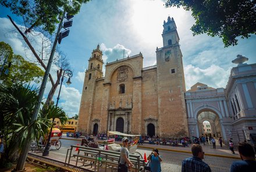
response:
<path id="1" fill-rule="evenodd" d="M 46 68 L 45 73 L 44 73 L 44 78 L 42 79 L 42 84 L 41 84 L 40 91 L 39 91 L 39 94 L 38 94 L 38 103 L 35 105 L 35 108 L 34 108 L 34 111 L 33 111 L 33 116 L 31 118 L 31 123 L 33 123 L 35 120 L 37 120 L 38 112 L 40 110 L 41 103 L 42 103 L 42 97 L 44 96 L 45 86 L 47 84 L 49 71 L 51 69 L 52 61 L 53 61 L 53 58 L 54 58 L 56 45 L 57 45 L 58 38 L 59 38 L 59 35 L 60 35 L 60 32 L 61 32 L 63 20 L 65 18 L 65 13 L 66 12 L 64 10 L 63 11 L 63 16 L 61 18 L 61 22 L 59 23 L 58 31 L 56 33 L 56 37 L 55 37 L 55 40 L 54 40 L 54 45 L 52 46 L 51 54 L 50 54 L 49 61 L 48 61 L 48 64 L 47 64 L 47 68 Z M 24 169 L 24 164 L 26 162 L 27 153 L 29 152 L 29 147 L 30 147 L 30 143 L 31 143 L 30 135 L 31 135 L 31 131 L 29 130 L 28 134 L 27 134 L 27 138 L 26 138 L 26 143 L 24 144 L 24 147 L 22 148 L 22 152 L 20 153 L 20 157 L 19 157 L 16 169 L 14 171 L 20 171 L 20 170 Z"/>

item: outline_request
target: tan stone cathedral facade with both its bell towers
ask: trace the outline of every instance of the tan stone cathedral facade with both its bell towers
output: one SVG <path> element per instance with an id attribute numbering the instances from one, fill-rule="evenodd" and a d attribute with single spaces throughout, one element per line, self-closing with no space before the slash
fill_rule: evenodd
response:
<path id="1" fill-rule="evenodd" d="M 164 21 L 162 38 L 163 47 L 156 50 L 157 65 L 144 68 L 140 53 L 106 63 L 104 77 L 99 45 L 93 50 L 77 130 L 188 136 L 182 52 L 173 18 Z"/>

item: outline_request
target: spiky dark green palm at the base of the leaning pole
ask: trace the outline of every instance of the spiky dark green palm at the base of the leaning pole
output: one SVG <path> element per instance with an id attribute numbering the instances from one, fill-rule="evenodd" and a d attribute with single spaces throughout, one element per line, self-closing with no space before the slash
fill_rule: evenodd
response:
<path id="1" fill-rule="evenodd" d="M 7 87 L 0 84 L 0 130 L 5 144 L 0 167 L 5 166 L 7 162 L 14 162 L 19 157 L 17 154 L 21 152 L 27 137 L 38 140 L 48 134 L 48 129 L 53 126 L 50 120 L 53 116 L 59 118 L 61 123 L 68 120 L 62 108 L 50 104 L 44 111 L 40 111 L 37 120 L 31 123 L 37 98 L 38 89 L 30 85 Z"/>

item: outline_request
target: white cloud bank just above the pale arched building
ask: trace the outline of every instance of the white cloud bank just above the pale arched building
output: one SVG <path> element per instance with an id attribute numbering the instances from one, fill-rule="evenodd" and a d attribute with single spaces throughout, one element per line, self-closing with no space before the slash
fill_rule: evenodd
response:
<path id="1" fill-rule="evenodd" d="M 197 82 L 205 83 L 211 87 L 225 87 L 229 78 L 231 67 L 228 69 L 221 68 L 217 65 L 211 65 L 202 69 L 194 65 L 184 67 L 186 89 L 189 90 Z"/>

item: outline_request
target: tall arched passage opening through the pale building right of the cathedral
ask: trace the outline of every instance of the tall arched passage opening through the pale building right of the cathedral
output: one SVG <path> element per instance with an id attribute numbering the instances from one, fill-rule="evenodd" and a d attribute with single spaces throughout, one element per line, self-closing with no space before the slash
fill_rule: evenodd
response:
<path id="1" fill-rule="evenodd" d="M 207 124 L 204 123 L 207 121 Z M 219 116 L 211 109 L 202 109 L 197 115 L 198 134 L 207 134 L 212 137 L 222 137 L 222 129 Z M 204 127 L 206 126 L 206 127 Z M 208 127 L 207 127 L 208 126 Z"/>

